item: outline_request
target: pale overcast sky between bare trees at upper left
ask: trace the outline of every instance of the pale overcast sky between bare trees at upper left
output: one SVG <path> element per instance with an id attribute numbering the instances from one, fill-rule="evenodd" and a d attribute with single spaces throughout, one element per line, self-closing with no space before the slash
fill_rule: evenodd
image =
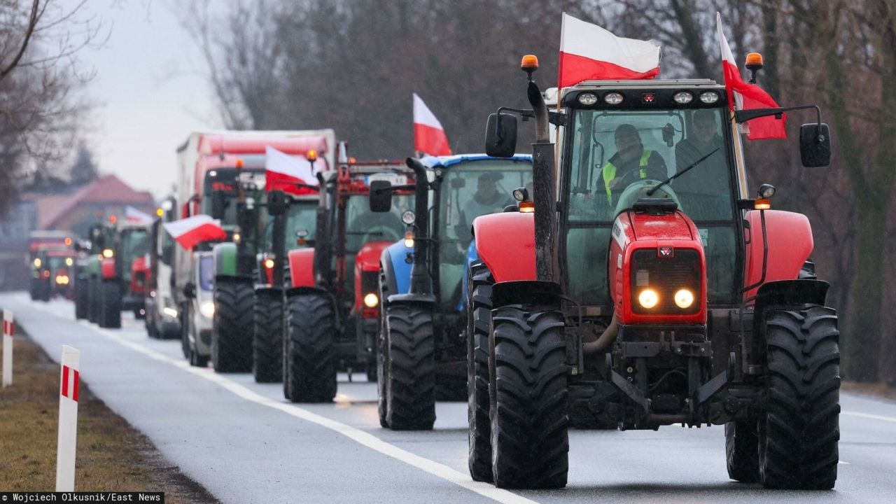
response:
<path id="1" fill-rule="evenodd" d="M 194 42 L 172 5 L 184 0 L 92 0 L 108 42 L 82 49 L 96 72 L 87 95 L 88 144 L 103 173 L 166 196 L 176 181 L 177 146 L 195 129 L 220 127 Z M 222 2 L 223 3 L 223 2 Z"/>

